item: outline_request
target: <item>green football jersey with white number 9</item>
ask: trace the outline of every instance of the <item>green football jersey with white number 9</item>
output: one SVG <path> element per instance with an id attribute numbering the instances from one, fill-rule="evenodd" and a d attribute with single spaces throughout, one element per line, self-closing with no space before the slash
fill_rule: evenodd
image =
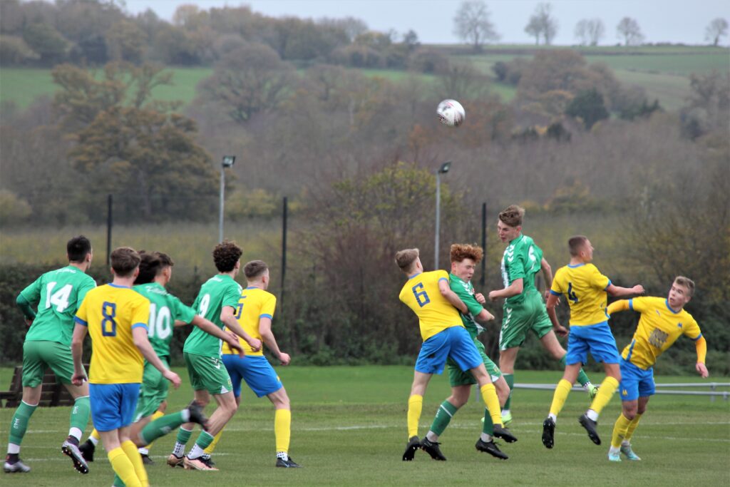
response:
<path id="1" fill-rule="evenodd" d="M 241 291 L 241 285 L 233 277 L 226 274 L 213 276 L 201 286 L 193 303 L 193 310 L 223 329 L 225 325 L 220 321 L 220 312 L 226 306 L 237 310 Z M 220 338 L 207 334 L 196 326 L 188 340 L 185 340 L 183 351 L 209 357 L 220 356 L 221 345 Z"/>

